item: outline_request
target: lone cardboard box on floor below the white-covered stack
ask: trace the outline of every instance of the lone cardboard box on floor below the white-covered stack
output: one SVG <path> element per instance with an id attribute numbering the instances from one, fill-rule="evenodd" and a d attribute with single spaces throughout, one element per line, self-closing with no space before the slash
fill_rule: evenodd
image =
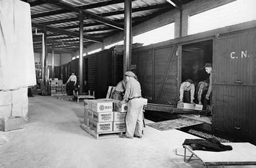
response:
<path id="1" fill-rule="evenodd" d="M 23 119 L 21 116 L 10 116 L 9 118 L 0 119 L 0 130 L 8 132 L 23 128 Z"/>

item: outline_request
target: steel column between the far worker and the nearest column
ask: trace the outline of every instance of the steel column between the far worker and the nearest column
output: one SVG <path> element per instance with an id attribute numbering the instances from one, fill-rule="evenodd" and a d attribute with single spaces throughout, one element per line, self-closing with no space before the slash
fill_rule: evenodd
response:
<path id="1" fill-rule="evenodd" d="M 79 93 L 83 93 L 83 35 L 84 35 L 84 16 L 79 16 Z"/>

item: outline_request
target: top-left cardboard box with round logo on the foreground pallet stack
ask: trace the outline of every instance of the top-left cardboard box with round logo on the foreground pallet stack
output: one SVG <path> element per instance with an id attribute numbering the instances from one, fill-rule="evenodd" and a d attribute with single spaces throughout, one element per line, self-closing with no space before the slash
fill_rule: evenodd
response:
<path id="1" fill-rule="evenodd" d="M 113 103 L 104 101 L 104 100 L 95 100 L 90 101 L 91 109 L 94 112 L 112 112 L 113 111 Z M 90 109 L 90 106 L 89 106 Z"/>

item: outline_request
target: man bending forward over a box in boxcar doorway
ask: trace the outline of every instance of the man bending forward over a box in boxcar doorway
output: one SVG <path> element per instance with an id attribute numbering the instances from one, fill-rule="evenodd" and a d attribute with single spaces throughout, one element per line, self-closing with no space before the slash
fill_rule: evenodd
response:
<path id="1" fill-rule="evenodd" d="M 187 79 L 180 85 L 180 100 L 179 103 L 194 104 L 195 85 L 191 79 Z"/>

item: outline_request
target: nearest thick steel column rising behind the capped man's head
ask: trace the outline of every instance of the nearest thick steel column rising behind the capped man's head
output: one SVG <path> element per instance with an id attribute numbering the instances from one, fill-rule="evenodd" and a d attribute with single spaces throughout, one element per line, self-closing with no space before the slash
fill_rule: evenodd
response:
<path id="1" fill-rule="evenodd" d="M 131 0 L 125 0 L 125 49 L 123 54 L 123 76 L 125 72 L 130 71 L 131 57 Z"/>

